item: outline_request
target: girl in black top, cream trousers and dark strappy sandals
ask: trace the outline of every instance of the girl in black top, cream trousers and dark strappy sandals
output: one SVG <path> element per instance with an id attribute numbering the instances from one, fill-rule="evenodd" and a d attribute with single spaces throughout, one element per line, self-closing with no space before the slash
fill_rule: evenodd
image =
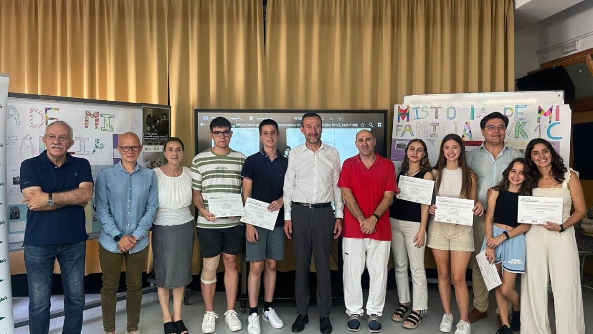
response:
<path id="1" fill-rule="evenodd" d="M 432 180 L 431 164 L 428 161 L 426 144 L 422 139 L 412 139 L 406 147 L 406 156 L 397 176 L 409 176 Z M 390 208 L 391 250 L 396 262 L 396 285 L 399 307 L 391 316 L 403 327 L 413 329 L 422 322 L 422 314 L 428 309 L 428 288 L 424 269 L 424 249 L 429 205 L 394 199 Z M 412 271 L 413 309 L 410 309 L 410 286 L 408 266 Z M 407 316 L 407 317 L 406 317 Z"/>

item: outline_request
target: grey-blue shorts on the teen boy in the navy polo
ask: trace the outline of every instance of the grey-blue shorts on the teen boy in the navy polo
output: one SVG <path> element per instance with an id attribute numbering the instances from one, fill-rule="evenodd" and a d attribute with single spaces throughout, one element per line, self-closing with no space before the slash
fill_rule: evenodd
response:
<path id="1" fill-rule="evenodd" d="M 256 244 L 245 240 L 247 262 L 260 262 L 265 259 L 280 261 L 284 259 L 284 228 L 275 227 L 270 231 L 256 226 L 259 239 Z"/>

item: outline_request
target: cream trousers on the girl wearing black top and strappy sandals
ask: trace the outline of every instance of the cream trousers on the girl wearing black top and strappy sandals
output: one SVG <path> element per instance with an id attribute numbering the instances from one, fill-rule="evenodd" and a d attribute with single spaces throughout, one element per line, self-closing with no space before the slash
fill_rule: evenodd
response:
<path id="1" fill-rule="evenodd" d="M 416 248 L 414 238 L 420 228 L 419 222 L 397 220 L 391 221 L 391 252 L 396 261 L 397 297 L 400 303 L 409 303 L 410 284 L 408 281 L 408 263 L 412 271 L 412 307 L 415 310 L 428 309 L 428 285 L 424 269 L 425 246 Z M 424 234 L 426 244 L 426 234 Z"/>

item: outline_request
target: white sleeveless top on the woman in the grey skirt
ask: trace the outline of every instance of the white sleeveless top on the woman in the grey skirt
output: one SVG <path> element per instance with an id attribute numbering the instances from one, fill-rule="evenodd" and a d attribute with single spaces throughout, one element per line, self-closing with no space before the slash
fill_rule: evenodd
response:
<path id="1" fill-rule="evenodd" d="M 171 177 L 154 168 L 158 180 L 158 209 L 155 225 L 181 225 L 193 221 L 189 206 L 192 205 L 192 171 L 183 167 L 180 176 Z"/>

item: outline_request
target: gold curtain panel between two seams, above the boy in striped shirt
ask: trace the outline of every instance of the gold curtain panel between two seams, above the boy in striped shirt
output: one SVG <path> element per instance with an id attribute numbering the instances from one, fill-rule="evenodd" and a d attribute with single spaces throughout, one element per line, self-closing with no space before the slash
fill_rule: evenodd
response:
<path id="1" fill-rule="evenodd" d="M 195 131 L 209 131 L 194 129 L 195 108 L 265 107 L 262 1 L 171 1 L 167 21 L 171 131 L 190 166 Z M 196 238 L 192 273 L 200 269 Z"/>

